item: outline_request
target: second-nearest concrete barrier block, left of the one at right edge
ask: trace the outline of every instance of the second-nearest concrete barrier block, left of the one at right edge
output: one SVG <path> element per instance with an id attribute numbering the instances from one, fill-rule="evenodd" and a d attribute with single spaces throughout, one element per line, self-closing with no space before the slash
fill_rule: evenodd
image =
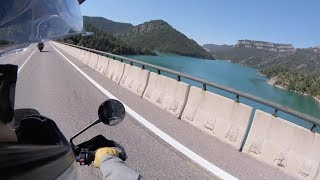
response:
<path id="1" fill-rule="evenodd" d="M 232 99 L 192 87 L 181 119 L 240 149 L 252 109 Z"/>

